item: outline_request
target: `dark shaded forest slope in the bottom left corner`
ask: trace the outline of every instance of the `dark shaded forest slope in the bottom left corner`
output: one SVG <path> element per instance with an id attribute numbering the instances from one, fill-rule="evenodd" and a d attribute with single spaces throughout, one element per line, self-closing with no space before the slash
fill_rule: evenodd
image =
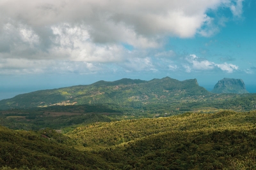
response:
<path id="1" fill-rule="evenodd" d="M 61 137 L 61 134 L 60 134 Z M 0 126 L 0 167 L 45 167 L 46 169 L 111 169 L 89 152 L 79 152 L 33 131 L 12 131 Z"/>

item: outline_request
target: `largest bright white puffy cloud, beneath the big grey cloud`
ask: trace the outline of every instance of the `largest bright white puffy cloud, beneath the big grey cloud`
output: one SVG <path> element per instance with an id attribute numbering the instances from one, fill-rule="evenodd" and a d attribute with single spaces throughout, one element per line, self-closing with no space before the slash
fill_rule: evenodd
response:
<path id="1" fill-rule="evenodd" d="M 124 48 L 121 45 L 96 45 L 86 29 L 63 24 L 52 27 L 52 30 L 55 35 L 53 41 L 58 44 L 52 48 L 52 53 L 64 53 L 75 61 L 104 63 L 122 60 Z"/>

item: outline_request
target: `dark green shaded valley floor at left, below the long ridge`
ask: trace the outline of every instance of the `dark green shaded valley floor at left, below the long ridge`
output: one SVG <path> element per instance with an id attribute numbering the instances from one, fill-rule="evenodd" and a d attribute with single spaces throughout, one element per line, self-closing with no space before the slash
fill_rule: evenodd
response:
<path id="1" fill-rule="evenodd" d="M 44 128 L 71 131 L 77 125 L 111 122 L 122 113 L 113 104 L 84 104 L 80 106 L 51 106 L 28 110 L 0 111 L 0 124 L 11 129 L 38 131 Z"/>

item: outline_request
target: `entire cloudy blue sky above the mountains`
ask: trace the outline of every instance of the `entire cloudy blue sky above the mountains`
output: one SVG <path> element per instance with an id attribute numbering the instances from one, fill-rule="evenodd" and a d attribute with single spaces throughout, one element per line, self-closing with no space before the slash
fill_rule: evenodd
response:
<path id="1" fill-rule="evenodd" d="M 0 99 L 166 76 L 256 92 L 255 39 L 255 0 L 1 0 Z"/>

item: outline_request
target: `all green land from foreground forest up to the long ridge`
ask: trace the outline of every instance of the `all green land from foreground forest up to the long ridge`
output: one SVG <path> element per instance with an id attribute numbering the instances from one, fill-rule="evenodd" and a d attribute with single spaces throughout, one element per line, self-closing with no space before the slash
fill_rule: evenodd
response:
<path id="1" fill-rule="evenodd" d="M 256 169 L 256 94 L 122 79 L 0 101 L 0 170 Z"/>

